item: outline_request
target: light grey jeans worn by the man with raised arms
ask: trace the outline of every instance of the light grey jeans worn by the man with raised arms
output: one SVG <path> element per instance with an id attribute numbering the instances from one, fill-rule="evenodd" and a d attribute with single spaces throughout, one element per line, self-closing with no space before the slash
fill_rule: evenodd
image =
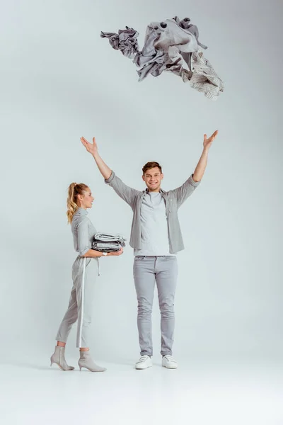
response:
<path id="1" fill-rule="evenodd" d="M 172 355 L 174 341 L 174 299 L 178 277 L 175 256 L 135 256 L 134 285 L 137 291 L 139 346 L 141 356 L 152 356 L 151 312 L 155 282 L 161 312 L 161 354 Z"/>

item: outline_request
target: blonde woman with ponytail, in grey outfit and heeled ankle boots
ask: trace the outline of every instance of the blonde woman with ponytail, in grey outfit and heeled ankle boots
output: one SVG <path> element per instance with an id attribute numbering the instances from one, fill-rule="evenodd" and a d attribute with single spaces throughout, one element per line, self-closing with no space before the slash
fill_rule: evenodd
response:
<path id="1" fill-rule="evenodd" d="M 96 229 L 87 217 L 87 208 L 92 207 L 93 196 L 90 188 L 83 183 L 71 183 L 67 199 L 67 217 L 71 224 L 71 232 L 74 238 L 74 248 L 79 252 L 72 268 L 73 288 L 69 307 L 64 315 L 57 333 L 57 346 L 50 360 L 51 365 L 57 363 L 62 370 L 74 370 L 65 360 L 64 351 L 66 341 L 72 324 L 78 319 L 76 346 L 80 350 L 79 368 L 86 368 L 91 372 L 103 372 L 91 358 L 88 348 L 88 330 L 91 325 L 91 313 L 93 310 L 94 288 L 98 276 L 98 258 L 101 256 L 120 256 L 123 252 L 100 252 L 91 249 L 93 236 Z"/>

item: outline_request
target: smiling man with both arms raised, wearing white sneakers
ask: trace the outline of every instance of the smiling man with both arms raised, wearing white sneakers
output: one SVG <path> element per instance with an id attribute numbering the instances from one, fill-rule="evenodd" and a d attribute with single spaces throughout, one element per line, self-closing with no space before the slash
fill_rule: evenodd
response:
<path id="1" fill-rule="evenodd" d="M 172 356 L 175 326 L 174 297 L 177 283 L 178 264 L 176 253 L 184 249 L 178 208 L 200 184 L 207 166 L 209 148 L 215 139 L 216 130 L 209 139 L 204 135 L 203 152 L 194 174 L 173 191 L 163 191 L 163 173 L 158 162 L 148 162 L 143 167 L 142 179 L 145 191 L 130 188 L 117 177 L 98 154 L 96 140 L 93 144 L 81 137 L 83 146 L 93 155 L 105 183 L 127 202 L 134 213 L 130 246 L 134 248 L 134 284 L 137 291 L 139 345 L 141 358 L 136 369 L 152 366 L 151 311 L 155 281 L 161 311 L 161 355 L 162 365 L 178 368 Z"/>

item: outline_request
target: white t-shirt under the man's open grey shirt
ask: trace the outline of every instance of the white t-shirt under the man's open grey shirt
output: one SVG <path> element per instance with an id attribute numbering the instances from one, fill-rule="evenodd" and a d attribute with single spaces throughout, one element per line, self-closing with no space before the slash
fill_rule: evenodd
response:
<path id="1" fill-rule="evenodd" d="M 141 199 L 141 249 L 134 255 L 171 256 L 165 200 L 160 192 L 146 192 Z"/>

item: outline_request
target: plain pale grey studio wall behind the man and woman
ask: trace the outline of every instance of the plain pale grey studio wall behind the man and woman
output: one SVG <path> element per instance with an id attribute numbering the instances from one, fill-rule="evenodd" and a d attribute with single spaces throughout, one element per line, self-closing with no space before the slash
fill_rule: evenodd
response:
<path id="1" fill-rule="evenodd" d="M 100 30 L 189 16 L 224 80 L 218 101 L 177 77 L 138 84 L 134 64 Z M 209 361 L 282 356 L 282 3 L 279 1 L 1 1 L 1 341 L 50 356 L 71 290 L 67 187 L 87 183 L 99 230 L 129 237 L 132 212 L 79 141 L 125 183 L 163 166 L 163 188 L 189 176 L 204 132 L 219 129 L 202 184 L 180 210 L 174 354 Z M 132 249 L 101 260 L 91 348 L 139 356 Z M 155 299 L 154 348 L 159 351 Z M 75 330 L 69 354 L 76 355 Z M 15 351 L 13 351 L 15 348 Z M 10 352 L 10 353 L 11 353 Z M 1 356 L 8 356 L 2 351 Z"/>

